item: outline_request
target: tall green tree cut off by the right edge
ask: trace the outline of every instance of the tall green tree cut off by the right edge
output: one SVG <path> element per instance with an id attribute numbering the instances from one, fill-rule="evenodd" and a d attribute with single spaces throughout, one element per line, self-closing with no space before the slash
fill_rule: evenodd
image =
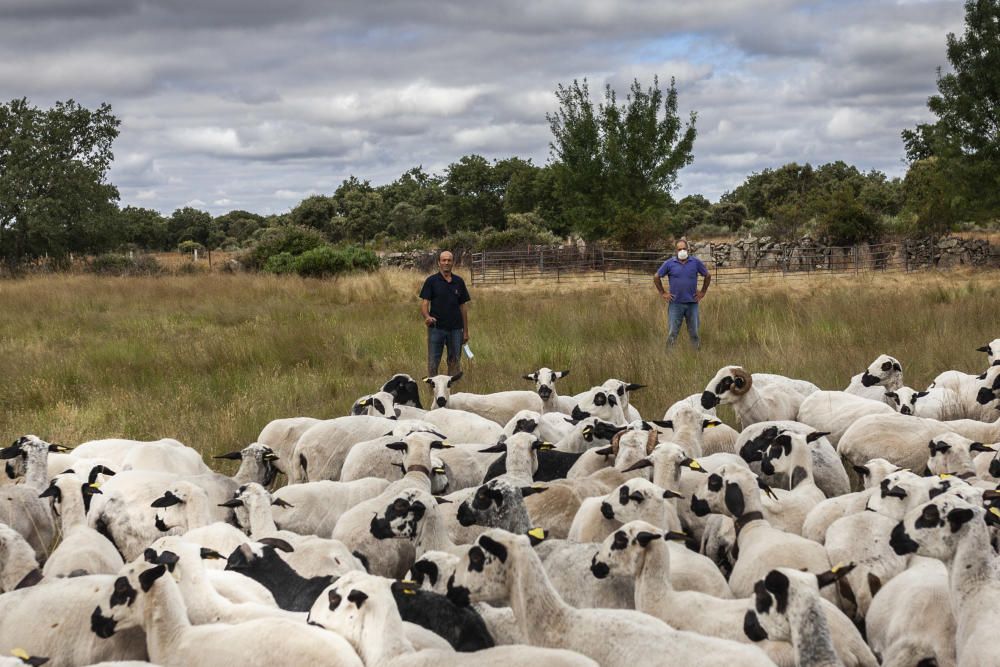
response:
<path id="1" fill-rule="evenodd" d="M 1000 3 L 967 0 L 965 32 L 948 33 L 952 71 L 938 69 L 938 94 L 927 100 L 933 124 L 903 131 L 907 156 L 938 158 L 955 189 L 947 199 L 968 214 L 995 216 L 1000 208 Z"/>

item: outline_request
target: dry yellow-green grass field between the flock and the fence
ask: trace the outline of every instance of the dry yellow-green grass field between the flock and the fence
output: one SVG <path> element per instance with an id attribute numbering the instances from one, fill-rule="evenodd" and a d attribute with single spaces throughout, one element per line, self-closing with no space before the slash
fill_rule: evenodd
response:
<path id="1" fill-rule="evenodd" d="M 395 372 L 423 376 L 421 280 L 383 271 L 0 282 L 0 438 L 170 436 L 211 454 L 253 441 L 277 417 L 343 415 Z M 568 368 L 564 394 L 612 376 L 649 385 L 633 401 L 651 417 L 726 364 L 840 389 L 885 352 L 908 385 L 924 387 L 946 369 L 981 370 L 975 348 L 1000 336 L 996 271 L 719 287 L 703 302 L 697 354 L 686 333 L 666 351 L 651 284 L 472 296 L 476 358 L 457 389 L 528 389 L 524 373 Z"/>

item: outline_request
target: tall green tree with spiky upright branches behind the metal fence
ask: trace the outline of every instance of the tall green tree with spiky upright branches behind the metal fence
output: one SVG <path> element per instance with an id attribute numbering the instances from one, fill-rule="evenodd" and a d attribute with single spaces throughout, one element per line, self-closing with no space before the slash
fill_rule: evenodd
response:
<path id="1" fill-rule="evenodd" d="M 586 79 L 560 84 L 556 98 L 559 109 L 546 114 L 550 148 L 562 165 L 564 208 L 584 236 L 607 236 L 612 220 L 638 224 L 670 203 L 696 136 L 696 114 L 686 124 L 678 115 L 673 79 L 665 93 L 655 77 L 645 90 L 634 80 L 623 104 L 607 86 L 596 110 Z"/>

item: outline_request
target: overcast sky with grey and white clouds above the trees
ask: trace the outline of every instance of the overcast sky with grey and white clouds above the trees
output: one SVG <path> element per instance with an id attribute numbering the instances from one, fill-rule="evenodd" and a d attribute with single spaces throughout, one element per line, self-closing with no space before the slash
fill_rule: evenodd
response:
<path id="1" fill-rule="evenodd" d="M 354 174 L 549 159 L 560 82 L 676 77 L 678 196 L 844 160 L 902 175 L 960 0 L 0 0 L 0 100 L 112 105 L 122 205 L 281 213 Z"/>

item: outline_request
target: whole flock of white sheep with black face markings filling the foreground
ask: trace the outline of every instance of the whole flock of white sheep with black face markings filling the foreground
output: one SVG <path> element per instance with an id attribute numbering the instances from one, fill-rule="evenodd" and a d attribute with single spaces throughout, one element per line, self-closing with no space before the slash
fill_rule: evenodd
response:
<path id="1" fill-rule="evenodd" d="M 267 424 L 216 457 L 232 476 L 171 439 L 24 436 L 0 449 L 0 667 L 995 666 L 980 349 L 924 391 L 887 355 L 844 391 L 727 366 L 655 420 L 617 379 L 439 375 L 424 410 L 400 374 Z"/>

